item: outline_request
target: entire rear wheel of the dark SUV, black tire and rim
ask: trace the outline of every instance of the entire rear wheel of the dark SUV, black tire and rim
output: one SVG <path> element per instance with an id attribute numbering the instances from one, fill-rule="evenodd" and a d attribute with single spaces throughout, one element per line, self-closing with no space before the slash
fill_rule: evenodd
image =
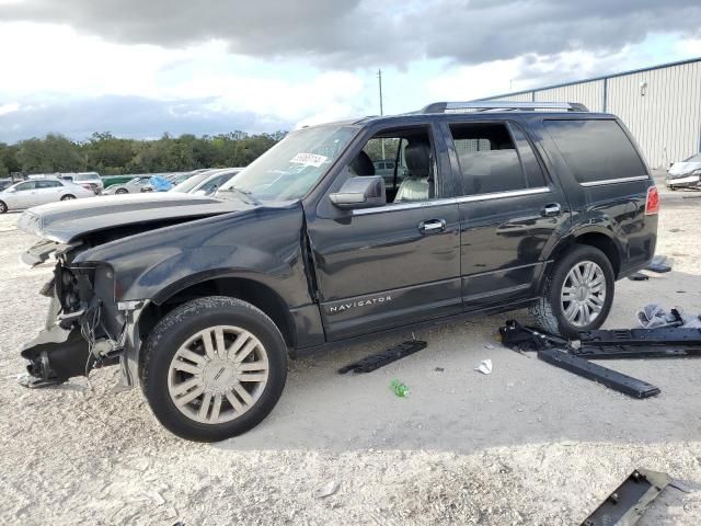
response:
<path id="1" fill-rule="evenodd" d="M 575 273 L 575 267 L 579 274 L 591 268 L 591 286 L 576 286 L 576 282 L 573 282 L 576 274 L 571 274 Z M 584 279 L 585 276 L 582 277 Z M 595 330 L 604 324 L 613 302 L 614 282 L 613 267 L 604 252 L 588 245 L 575 247 L 564 253 L 548 272 L 542 296 L 530 307 L 530 313 L 543 330 L 576 339 L 579 331 Z M 563 288 L 565 285 L 567 290 Z M 566 301 L 565 298 L 572 300 Z M 588 322 L 582 308 L 589 312 Z M 575 319 L 568 318 L 567 313 L 574 313 Z"/>

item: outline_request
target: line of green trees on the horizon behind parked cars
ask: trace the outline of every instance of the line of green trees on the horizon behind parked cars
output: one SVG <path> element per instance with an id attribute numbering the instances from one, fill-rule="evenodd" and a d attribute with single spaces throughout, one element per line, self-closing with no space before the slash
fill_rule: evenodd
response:
<path id="1" fill-rule="evenodd" d="M 105 132 L 74 142 L 49 134 L 12 146 L 0 142 L 0 175 L 19 171 L 25 174 L 95 171 L 101 175 L 120 175 L 245 167 L 285 135 L 285 132 L 260 135 L 233 132 L 204 137 L 164 134 L 157 140 L 136 140 Z"/>

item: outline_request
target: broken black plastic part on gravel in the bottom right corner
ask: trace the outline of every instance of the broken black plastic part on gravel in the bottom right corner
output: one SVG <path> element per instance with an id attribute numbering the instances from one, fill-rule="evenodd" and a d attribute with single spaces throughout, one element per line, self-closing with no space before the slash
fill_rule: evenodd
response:
<path id="1" fill-rule="evenodd" d="M 582 526 L 632 526 L 670 482 L 667 473 L 636 469 Z"/>

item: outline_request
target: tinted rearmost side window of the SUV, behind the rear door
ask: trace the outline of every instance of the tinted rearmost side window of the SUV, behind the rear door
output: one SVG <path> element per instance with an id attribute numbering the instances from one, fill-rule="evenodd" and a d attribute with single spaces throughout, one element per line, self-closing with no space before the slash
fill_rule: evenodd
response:
<path id="1" fill-rule="evenodd" d="M 647 175 L 616 121 L 545 121 L 543 125 L 579 183 Z"/>

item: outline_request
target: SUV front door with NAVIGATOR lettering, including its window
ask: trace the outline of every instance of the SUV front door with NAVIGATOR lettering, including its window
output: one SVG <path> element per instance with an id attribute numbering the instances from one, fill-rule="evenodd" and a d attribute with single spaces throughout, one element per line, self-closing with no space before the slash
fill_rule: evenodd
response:
<path id="1" fill-rule="evenodd" d="M 448 195 L 443 139 L 437 144 L 428 124 L 379 129 L 367 138 L 314 214 L 307 214 L 329 341 L 461 311 L 460 221 Z M 392 162 L 394 170 L 391 178 L 383 174 L 386 206 L 340 210 L 331 205 L 333 188 L 353 175 L 374 175 L 380 162 Z"/>

